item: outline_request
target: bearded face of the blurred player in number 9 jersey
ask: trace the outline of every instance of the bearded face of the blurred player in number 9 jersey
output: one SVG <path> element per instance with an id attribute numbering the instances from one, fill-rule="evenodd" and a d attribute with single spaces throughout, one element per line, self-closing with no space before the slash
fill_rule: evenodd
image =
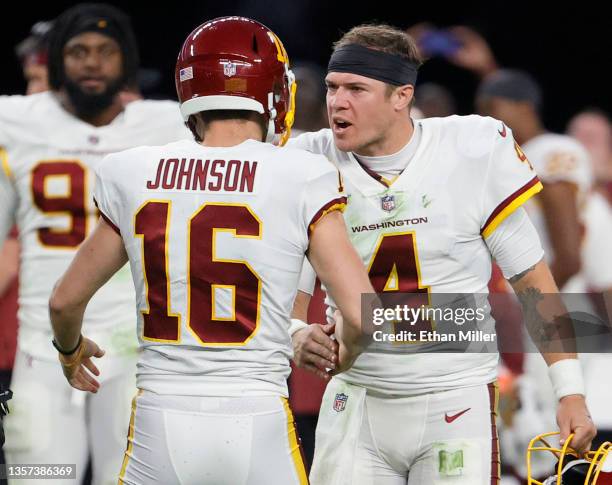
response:
<path id="1" fill-rule="evenodd" d="M 99 95 L 122 76 L 121 47 L 111 37 L 85 32 L 64 46 L 64 69 L 69 82 L 83 94 Z"/>

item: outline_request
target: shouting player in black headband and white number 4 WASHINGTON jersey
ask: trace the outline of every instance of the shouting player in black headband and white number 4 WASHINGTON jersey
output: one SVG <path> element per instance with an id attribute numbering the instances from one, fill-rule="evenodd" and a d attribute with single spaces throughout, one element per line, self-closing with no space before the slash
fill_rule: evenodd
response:
<path id="1" fill-rule="evenodd" d="M 512 131 L 479 116 L 411 120 L 419 64 L 404 32 L 352 29 L 335 44 L 328 66 L 331 130 L 290 142 L 339 168 L 349 238 L 374 288 L 484 294 L 494 257 L 519 295 L 556 293 L 521 207 L 541 184 Z M 295 315 L 303 319 L 309 284 L 301 279 L 305 292 L 298 293 Z M 292 326 L 296 362 L 323 376 L 334 350 L 324 329 Z M 585 449 L 595 430 L 576 356 L 544 357 L 563 436 L 575 433 L 572 445 Z M 497 361 L 496 353 L 366 350 L 327 386 L 311 483 L 498 483 Z"/>

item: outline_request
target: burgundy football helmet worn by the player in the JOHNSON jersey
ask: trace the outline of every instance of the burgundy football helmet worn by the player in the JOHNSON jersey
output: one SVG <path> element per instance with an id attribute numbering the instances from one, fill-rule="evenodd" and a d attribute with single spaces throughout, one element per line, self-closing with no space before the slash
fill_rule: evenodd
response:
<path id="1" fill-rule="evenodd" d="M 207 110 L 256 111 L 266 119 L 266 141 L 289 138 L 295 76 L 280 39 L 255 20 L 220 17 L 196 28 L 179 52 L 175 83 L 185 121 Z"/>

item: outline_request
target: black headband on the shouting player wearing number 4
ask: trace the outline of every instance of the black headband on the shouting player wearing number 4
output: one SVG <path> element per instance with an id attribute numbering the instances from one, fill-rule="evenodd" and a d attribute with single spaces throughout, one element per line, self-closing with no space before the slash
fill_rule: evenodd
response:
<path id="1" fill-rule="evenodd" d="M 416 83 L 418 66 L 395 54 L 358 44 L 344 45 L 336 49 L 327 65 L 327 72 L 350 72 L 377 79 L 394 86 Z"/>

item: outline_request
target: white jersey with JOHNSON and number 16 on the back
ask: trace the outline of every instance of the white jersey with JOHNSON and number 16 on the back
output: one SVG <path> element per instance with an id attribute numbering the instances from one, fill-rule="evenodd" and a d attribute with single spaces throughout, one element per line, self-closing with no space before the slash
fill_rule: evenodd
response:
<path id="1" fill-rule="evenodd" d="M 286 396 L 309 231 L 345 205 L 337 170 L 254 140 L 189 140 L 111 155 L 97 174 L 96 201 L 125 242 L 136 286 L 138 387 Z"/>

